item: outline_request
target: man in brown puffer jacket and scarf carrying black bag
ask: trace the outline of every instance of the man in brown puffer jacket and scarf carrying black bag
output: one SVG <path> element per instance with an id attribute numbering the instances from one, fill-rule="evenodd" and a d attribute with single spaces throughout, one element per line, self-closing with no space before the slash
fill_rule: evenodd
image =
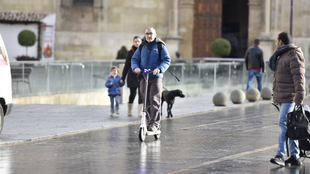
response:
<path id="1" fill-rule="evenodd" d="M 281 32 L 276 39 L 275 53 L 270 57 L 268 66 L 274 71 L 273 102 L 280 106 L 279 146 L 271 163 L 284 165 L 301 165 L 299 160 L 298 140 L 290 140 L 290 158 L 284 161 L 286 150 L 286 115 L 294 110 L 295 105 L 302 105 L 306 96 L 305 59 L 300 48 L 292 44 L 292 36 Z"/>

